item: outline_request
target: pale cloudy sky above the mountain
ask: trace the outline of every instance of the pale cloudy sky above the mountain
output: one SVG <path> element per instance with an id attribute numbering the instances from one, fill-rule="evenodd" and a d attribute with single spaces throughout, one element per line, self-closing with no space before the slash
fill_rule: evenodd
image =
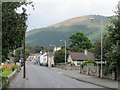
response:
<path id="1" fill-rule="evenodd" d="M 120 0 L 32 0 L 27 31 L 83 15 L 112 16 Z"/>

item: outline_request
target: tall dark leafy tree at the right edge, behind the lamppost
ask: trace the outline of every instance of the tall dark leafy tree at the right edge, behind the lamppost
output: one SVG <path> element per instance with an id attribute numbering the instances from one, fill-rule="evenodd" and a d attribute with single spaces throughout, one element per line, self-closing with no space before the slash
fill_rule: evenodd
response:
<path id="1" fill-rule="evenodd" d="M 115 73 L 115 80 L 120 75 L 120 6 L 118 5 L 116 16 L 111 18 L 111 24 L 108 26 L 107 38 L 110 40 L 106 52 L 106 73 Z"/>

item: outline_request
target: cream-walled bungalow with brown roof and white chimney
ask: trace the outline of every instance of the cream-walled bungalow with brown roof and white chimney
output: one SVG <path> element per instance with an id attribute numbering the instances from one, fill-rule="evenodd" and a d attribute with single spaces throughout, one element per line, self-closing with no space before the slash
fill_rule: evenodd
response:
<path id="1" fill-rule="evenodd" d="M 85 52 L 71 52 L 67 61 L 75 64 L 75 66 L 78 66 L 86 60 L 95 60 L 95 57 L 93 53 L 85 50 Z"/>

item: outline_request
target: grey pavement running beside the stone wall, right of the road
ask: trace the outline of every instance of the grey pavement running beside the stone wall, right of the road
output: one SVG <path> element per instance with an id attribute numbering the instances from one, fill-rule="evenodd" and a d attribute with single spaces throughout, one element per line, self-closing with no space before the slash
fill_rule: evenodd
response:
<path id="1" fill-rule="evenodd" d="M 102 86 L 105 88 L 112 88 L 116 89 L 118 88 L 118 81 L 108 80 L 108 79 L 101 79 L 95 76 L 89 76 L 85 74 L 80 74 L 79 70 L 64 70 L 59 68 L 51 68 L 52 70 L 59 71 L 63 73 L 66 76 L 69 76 L 71 78 L 74 78 L 76 80 L 91 83 L 94 85 Z"/>

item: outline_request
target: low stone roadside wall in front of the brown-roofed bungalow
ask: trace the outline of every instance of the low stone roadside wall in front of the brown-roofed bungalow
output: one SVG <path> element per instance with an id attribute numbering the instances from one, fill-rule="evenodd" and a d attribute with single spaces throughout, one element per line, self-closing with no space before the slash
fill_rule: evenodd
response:
<path id="1" fill-rule="evenodd" d="M 83 68 L 80 68 L 79 66 L 59 64 L 59 65 L 56 65 L 56 67 L 60 69 L 65 69 L 65 70 L 79 70 L 81 74 L 100 77 L 100 66 L 98 65 L 97 66 L 84 66 Z M 103 75 L 103 78 L 114 80 L 114 73 L 106 75 L 106 76 Z"/>

